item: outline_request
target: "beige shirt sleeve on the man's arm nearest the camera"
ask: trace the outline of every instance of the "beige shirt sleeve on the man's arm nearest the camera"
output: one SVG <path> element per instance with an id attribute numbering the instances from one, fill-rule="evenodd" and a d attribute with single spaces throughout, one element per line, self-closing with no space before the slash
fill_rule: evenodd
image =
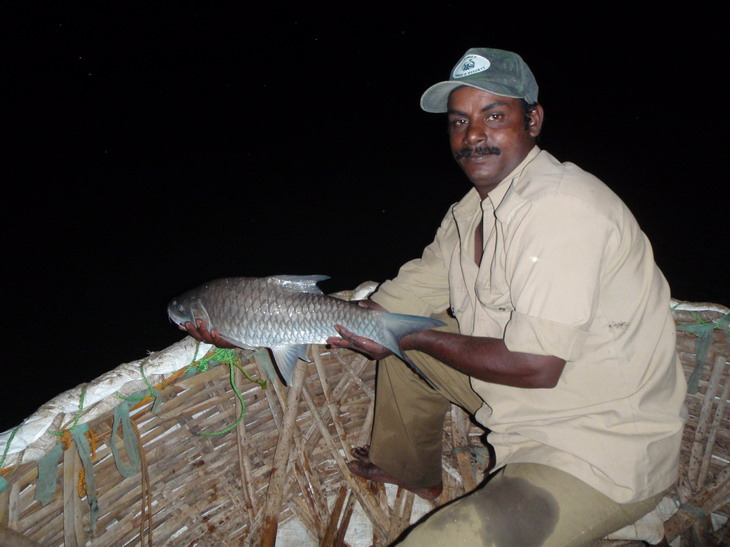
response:
<path id="1" fill-rule="evenodd" d="M 595 314 L 617 226 L 574 196 L 532 202 L 505 234 L 506 280 L 514 312 L 504 341 L 512 351 L 575 360 Z"/>

